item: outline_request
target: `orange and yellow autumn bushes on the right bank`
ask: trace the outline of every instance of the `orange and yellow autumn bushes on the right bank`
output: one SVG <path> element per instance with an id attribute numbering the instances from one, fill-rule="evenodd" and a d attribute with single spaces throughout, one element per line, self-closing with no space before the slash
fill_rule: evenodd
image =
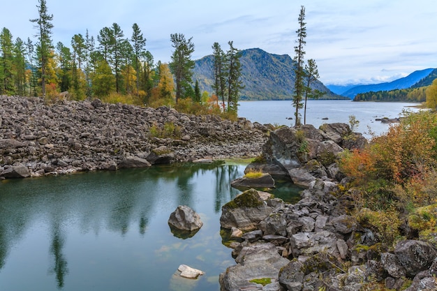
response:
<path id="1" fill-rule="evenodd" d="M 436 133 L 435 113 L 407 114 L 365 149 L 343 154 L 341 170 L 364 190 L 366 207 L 430 202 L 437 197 L 429 191 L 436 178 Z"/>

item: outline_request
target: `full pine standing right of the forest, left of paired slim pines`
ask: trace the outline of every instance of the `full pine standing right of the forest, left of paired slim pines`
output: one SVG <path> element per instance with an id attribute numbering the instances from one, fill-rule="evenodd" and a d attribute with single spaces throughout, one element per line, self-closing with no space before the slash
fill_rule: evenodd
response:
<path id="1" fill-rule="evenodd" d="M 182 33 L 170 34 L 172 47 L 175 48 L 170 62 L 170 69 L 175 75 L 176 103 L 179 98 L 186 97 L 186 89 L 191 87 L 191 82 L 193 82 L 194 61 L 191 60 L 191 54 L 194 52 L 194 44 L 191 42 L 192 39 L 188 38 L 186 40 Z"/>

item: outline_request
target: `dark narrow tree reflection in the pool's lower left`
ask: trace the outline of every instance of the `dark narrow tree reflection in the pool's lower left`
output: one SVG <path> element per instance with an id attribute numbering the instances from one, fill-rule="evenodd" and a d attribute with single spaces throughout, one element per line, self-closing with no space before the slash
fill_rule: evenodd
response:
<path id="1" fill-rule="evenodd" d="M 62 253 L 65 239 L 61 233 L 59 221 L 53 221 L 53 225 L 50 253 L 53 255 L 54 265 L 50 268 L 49 273 L 55 274 L 57 287 L 58 289 L 62 289 L 64 287 L 64 276 L 68 274 L 67 260 Z"/>

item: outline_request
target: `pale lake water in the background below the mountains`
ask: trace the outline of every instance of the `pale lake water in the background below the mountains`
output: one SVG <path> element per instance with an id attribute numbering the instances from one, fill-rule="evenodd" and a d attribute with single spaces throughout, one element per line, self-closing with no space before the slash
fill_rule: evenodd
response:
<path id="1" fill-rule="evenodd" d="M 349 116 L 354 115 L 360 121 L 357 132 L 369 137 L 370 130 L 377 135 L 388 129 L 388 124 L 375 121 L 377 118 L 399 117 L 402 110 L 417 111 L 413 107 L 418 103 L 390 103 L 390 102 L 353 102 L 352 100 L 308 100 L 306 105 L 306 124 L 318 128 L 322 124 L 342 122 L 349 124 Z M 299 110 L 302 115 L 304 111 Z M 295 107 L 291 100 L 278 101 L 241 101 L 239 102 L 238 115 L 260 124 L 279 124 L 294 126 Z M 288 118 L 292 117 L 290 120 Z M 324 120 L 327 118 L 327 120 Z"/>

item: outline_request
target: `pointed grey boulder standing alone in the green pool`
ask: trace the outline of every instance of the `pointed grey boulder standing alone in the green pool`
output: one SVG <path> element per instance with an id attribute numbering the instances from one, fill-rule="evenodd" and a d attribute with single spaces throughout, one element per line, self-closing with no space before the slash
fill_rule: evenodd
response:
<path id="1" fill-rule="evenodd" d="M 186 230 L 192 232 L 199 230 L 203 223 L 200 221 L 199 214 L 186 205 L 179 205 L 175 211 L 170 214 L 168 219 L 170 227 L 175 227 L 177 230 Z"/>

